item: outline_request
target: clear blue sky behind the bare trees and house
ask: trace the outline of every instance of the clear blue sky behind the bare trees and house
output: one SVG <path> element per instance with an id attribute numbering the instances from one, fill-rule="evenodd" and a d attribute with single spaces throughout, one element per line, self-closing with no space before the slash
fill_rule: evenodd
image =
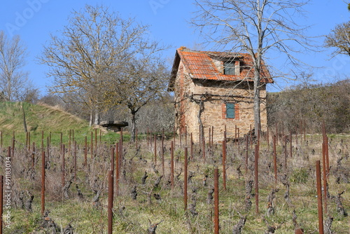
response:
<path id="1" fill-rule="evenodd" d="M 125 18 L 134 17 L 138 22 L 151 25 L 153 38 L 172 46 L 165 53 L 165 60 L 172 61 L 176 48 L 180 46 L 211 50 L 210 47 L 198 47 L 203 39 L 188 23 L 193 17 L 193 12 L 197 10 L 190 0 L 3 1 L 0 8 L 0 30 L 9 37 L 13 34 L 21 36 L 29 52 L 25 70 L 29 71 L 29 78 L 41 89 L 42 94 L 45 93 L 45 86 L 50 83 L 50 78 L 45 77 L 47 67 L 38 64 L 36 57 L 41 54 L 43 45 L 50 39 L 50 33 L 57 34 L 62 30 L 71 11 L 78 11 L 85 4 L 104 4 Z M 313 25 L 308 31 L 308 36 L 328 34 L 335 25 L 350 20 L 350 12 L 342 0 L 311 1 L 305 9 L 308 18 L 302 23 Z M 319 38 L 316 41 L 321 44 L 323 39 Z M 300 54 L 300 60 L 318 67 L 306 71 L 313 72 L 317 82 L 334 82 L 350 74 L 350 57 L 331 57 L 331 53 L 332 49 L 324 49 L 323 52 Z M 278 59 L 265 62 L 272 63 L 274 67 L 283 67 L 283 61 Z M 270 85 L 268 90 L 275 92 L 294 83 L 283 79 L 276 80 L 276 84 Z"/>

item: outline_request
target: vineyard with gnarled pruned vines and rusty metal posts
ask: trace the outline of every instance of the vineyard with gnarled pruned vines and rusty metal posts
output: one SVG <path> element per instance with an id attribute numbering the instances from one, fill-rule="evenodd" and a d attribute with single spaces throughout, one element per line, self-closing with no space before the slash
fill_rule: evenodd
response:
<path id="1" fill-rule="evenodd" d="M 296 129 L 1 132 L 3 233 L 349 233 L 349 135 Z"/>

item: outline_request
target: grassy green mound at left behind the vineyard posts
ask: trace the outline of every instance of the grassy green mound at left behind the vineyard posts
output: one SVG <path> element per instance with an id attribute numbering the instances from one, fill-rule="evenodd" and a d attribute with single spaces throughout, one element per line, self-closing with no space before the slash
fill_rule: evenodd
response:
<path id="1" fill-rule="evenodd" d="M 44 132 L 44 142 L 50 136 L 51 143 L 58 144 L 61 132 L 63 141 L 67 142 L 69 132 L 74 130 L 74 139 L 82 143 L 85 141 L 85 136 L 90 140 L 90 132 L 94 131 L 87 121 L 52 106 L 26 102 L 0 102 L 0 131 L 3 134 L 3 146 L 10 144 L 13 133 L 16 142 L 25 144 L 27 134 L 23 123 L 23 111 L 31 142 L 40 142 L 42 132 Z M 99 135 L 99 130 L 97 132 Z M 101 135 L 102 140 L 108 142 L 114 142 L 119 137 L 114 132 L 102 132 Z"/>

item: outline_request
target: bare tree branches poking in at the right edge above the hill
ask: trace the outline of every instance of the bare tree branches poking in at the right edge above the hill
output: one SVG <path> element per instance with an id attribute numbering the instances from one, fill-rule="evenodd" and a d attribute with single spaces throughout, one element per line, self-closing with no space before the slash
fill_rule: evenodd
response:
<path id="1" fill-rule="evenodd" d="M 337 48 L 334 55 L 350 56 L 350 21 L 337 25 L 328 36 L 325 36 L 325 47 Z"/>

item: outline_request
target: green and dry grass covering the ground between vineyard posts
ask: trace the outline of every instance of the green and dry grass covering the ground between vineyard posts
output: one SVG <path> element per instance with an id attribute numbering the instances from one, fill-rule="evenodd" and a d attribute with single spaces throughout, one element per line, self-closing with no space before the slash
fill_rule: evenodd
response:
<path id="1" fill-rule="evenodd" d="M 18 113 L 10 111 L 10 109 L 18 108 L 18 104 L 4 104 L 6 108 L 0 108 L 0 118 L 5 123 L 3 113 L 6 115 L 16 116 Z M 16 107 L 17 106 L 17 107 Z M 66 118 L 73 118 L 62 111 L 50 112 L 47 106 L 28 105 L 27 115 L 29 116 L 27 122 L 30 125 L 35 122 L 35 118 L 30 118 L 31 115 L 37 116 L 37 113 L 30 113 L 29 109 L 42 111 L 42 113 L 52 113 L 52 116 L 62 115 L 59 117 L 66 124 L 69 121 L 64 121 Z M 46 110 L 45 110 L 46 109 Z M 15 113 L 15 114 L 14 114 Z M 55 113 L 55 114 L 54 114 Z M 53 118 L 53 117 L 50 118 Z M 68 117 L 67 117 L 68 116 Z M 20 114 L 18 114 L 20 118 Z M 48 119 L 48 116 L 42 116 Z M 56 117 L 58 118 L 58 117 Z M 74 117 L 75 118 L 75 117 Z M 12 121 L 12 122 L 11 122 Z M 34 153 L 34 168 L 31 167 L 31 155 L 24 149 L 25 135 L 23 134 L 22 125 L 20 121 L 15 119 L 6 122 L 1 127 L 3 132 L 3 142 L 10 142 L 12 131 L 15 130 L 16 135 L 16 151 L 12 164 L 12 179 L 13 191 L 30 191 L 34 194 L 34 202 L 32 204 L 33 211 L 28 212 L 22 208 L 15 208 L 15 195 L 13 194 L 13 204 L 11 210 L 12 224 L 10 229 L 4 229 L 4 233 L 45 233 L 42 228 L 43 218 L 41 216 L 41 152 Z M 55 120 L 51 120 L 55 122 Z M 45 209 L 50 211 L 50 219 L 55 221 L 57 226 L 62 230 L 69 223 L 74 228 L 74 233 L 107 233 L 107 181 L 106 174 L 110 167 L 110 151 L 109 147 L 119 139 L 119 135 L 114 132 L 102 132 L 102 141 L 98 140 L 97 153 L 91 154 L 88 152 L 87 166 L 83 166 L 83 144 L 85 144 L 85 137 L 90 143 L 91 132 L 94 130 L 87 127 L 87 123 L 83 121 L 80 126 L 79 123 L 73 125 L 67 124 L 55 130 L 55 125 L 49 126 L 51 121 L 45 121 L 45 125 L 41 125 L 40 121 L 36 130 L 31 131 L 32 139 L 41 138 L 41 130 L 44 130 L 45 136 L 47 132 L 52 132 L 52 142 L 50 148 L 50 167 L 46 169 L 46 193 L 45 193 Z M 77 120 L 75 122 L 78 122 Z M 18 128 L 5 128 L 6 126 L 15 126 Z M 39 124 L 40 123 L 40 124 Z M 57 123 L 57 122 L 56 122 Z M 59 126 L 59 124 L 56 124 Z M 74 128 L 76 127 L 76 128 Z M 65 131 L 64 131 L 65 129 Z M 69 188 L 69 198 L 66 199 L 61 191 L 61 156 L 59 154 L 59 135 L 63 132 L 64 142 L 69 142 L 69 129 L 74 129 L 74 139 L 78 142 L 78 173 L 76 182 L 73 181 L 71 188 Z M 99 130 L 98 130 L 99 131 Z M 99 136 L 99 134 L 98 134 Z M 342 166 L 346 169 L 350 167 L 350 159 L 346 158 L 349 155 L 350 137 L 344 135 L 330 136 L 330 165 L 332 170 L 335 170 L 337 159 L 341 156 Z M 127 137 L 125 137 L 127 139 Z M 146 230 L 151 223 L 158 223 L 156 230 L 157 234 L 162 233 L 213 233 L 214 231 L 214 206 L 207 204 L 207 193 L 209 188 L 214 184 L 214 167 L 219 168 L 219 209 L 220 209 L 220 233 L 232 233 L 232 228 L 239 221 L 240 215 L 246 215 L 246 224 L 242 233 L 265 233 L 267 225 L 276 226 L 278 229 L 275 233 L 294 233 L 293 224 L 293 210 L 297 215 L 297 223 L 300 228 L 304 228 L 305 233 L 318 233 L 317 220 L 317 198 L 316 198 L 316 178 L 315 178 L 315 160 L 321 159 L 320 135 L 307 135 L 307 143 L 300 139 L 298 144 L 293 147 L 293 158 L 288 158 L 288 167 L 286 170 L 283 167 L 278 168 L 279 181 L 274 183 L 273 164 L 272 163 L 272 147 L 267 151 L 266 142 L 260 144 L 260 158 L 259 158 L 259 214 L 255 214 L 255 200 L 251 196 L 252 207 L 246 211 L 244 200 L 246 199 L 246 180 L 254 179 L 253 172 L 248 170 L 245 172 L 244 165 L 241 166 L 243 176 L 237 173 L 237 167 L 244 162 L 244 153 L 241 156 L 238 152 L 237 146 L 234 143 L 228 143 L 228 163 L 227 163 L 227 190 L 223 190 L 222 165 L 221 165 L 221 146 L 216 147 L 214 156 L 210 156 L 207 152 L 207 160 L 197 158 L 199 146 L 195 145 L 195 160 L 190 161 L 189 171 L 194 172 L 193 182 L 188 184 L 188 207 L 193 203 L 193 198 L 196 200 L 197 216 L 193 216 L 188 210 L 185 211 L 183 207 L 183 167 L 184 153 L 180 146 L 176 146 L 174 158 L 179 158 L 175 163 L 175 174 L 179 174 L 179 180 L 175 179 L 174 189 L 168 184 L 169 167 L 170 167 L 170 142 L 165 142 L 165 177 L 162 178 L 160 186 L 153 188 L 155 180 L 162 174 L 161 158 L 158 148 L 158 165 L 153 170 L 153 146 L 147 146 L 146 141 L 140 141 L 140 149 L 137 152 L 135 145 L 130 142 L 125 142 L 124 153 L 125 160 L 123 160 L 123 171 L 120 179 L 119 194 L 114 199 L 113 205 L 113 233 L 147 233 Z M 179 144 L 179 141 L 177 141 Z M 160 146 L 160 144 L 158 144 Z M 94 146 L 95 148 L 96 146 Z M 243 147 L 241 147 L 242 149 Z M 311 153 L 313 152 L 314 153 Z M 2 155 L 6 155 L 6 149 L 1 151 Z M 249 156 L 253 156 L 253 152 L 249 151 Z M 278 165 L 283 163 L 284 153 L 282 146 L 277 146 Z M 253 158 L 253 157 L 252 157 Z M 73 175 L 73 157 L 72 153 L 66 153 L 66 178 Z M 2 162 L 3 163 L 3 162 Z M 249 160 L 249 164 L 253 162 Z M 272 165 L 272 167 L 269 167 Z M 331 170 L 331 172 L 333 172 Z M 123 175 L 125 171 L 125 176 Z M 148 178 L 146 184 L 141 184 L 141 177 L 144 172 L 147 172 Z M 3 167 L 0 168 L 0 173 L 3 174 Z M 31 174 L 31 172 L 34 172 Z M 208 175 L 207 186 L 203 186 L 202 179 L 204 175 Z M 283 174 L 288 175 L 290 183 L 290 201 L 291 205 L 286 202 L 284 194 L 286 193 L 286 186 L 281 183 Z M 342 195 L 342 202 L 347 212 L 350 212 L 350 184 L 344 181 L 336 182 L 335 174 L 330 173 L 329 191 L 332 195 L 337 195 L 341 191 L 345 191 Z M 84 198 L 80 200 L 77 196 L 76 185 L 82 191 Z M 103 188 L 100 201 L 102 206 L 99 209 L 93 207 L 92 198 L 94 192 L 92 188 L 100 186 Z M 130 191 L 134 186 L 137 186 L 137 200 L 132 200 Z M 196 188 L 196 193 L 193 189 Z M 272 188 L 279 188 L 276 192 L 274 200 L 274 214 L 267 216 L 267 197 Z M 155 200 L 151 197 L 151 203 L 148 200 L 148 193 L 157 193 L 162 198 Z M 255 193 L 254 188 L 252 193 Z M 349 216 L 342 217 L 337 214 L 337 207 L 335 202 L 328 200 L 328 212 L 334 218 L 332 223 L 332 230 L 337 233 L 347 233 L 350 228 Z M 265 221 L 264 221 L 265 219 Z"/>

